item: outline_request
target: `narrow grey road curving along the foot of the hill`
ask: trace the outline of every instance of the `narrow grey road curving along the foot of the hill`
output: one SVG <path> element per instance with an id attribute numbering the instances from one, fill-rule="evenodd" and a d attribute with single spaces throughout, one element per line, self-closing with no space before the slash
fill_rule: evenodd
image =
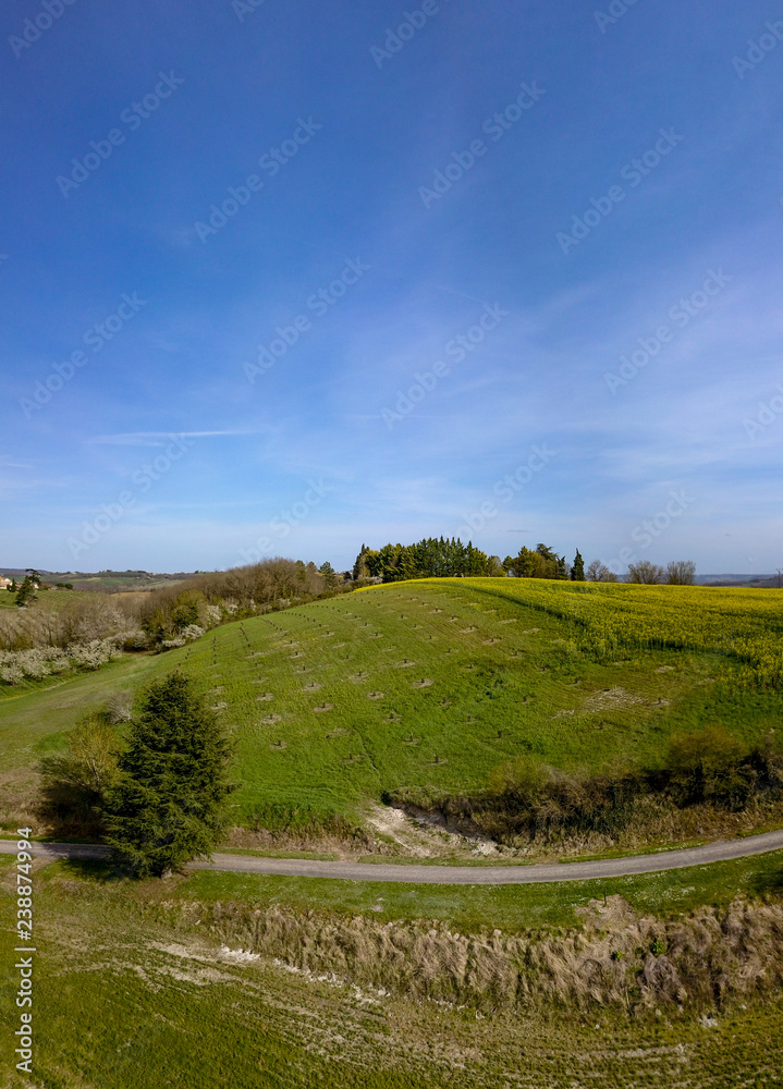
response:
<path id="1" fill-rule="evenodd" d="M 783 829 L 744 840 L 708 843 L 653 855 L 601 858 L 585 862 L 531 866 L 421 866 L 394 862 L 325 862 L 305 858 L 259 858 L 254 855 L 216 854 L 209 862 L 189 862 L 187 869 L 230 870 L 234 873 L 271 873 L 278 877 L 332 878 L 345 881 L 400 881 L 408 884 L 539 884 L 551 881 L 588 881 L 654 873 L 686 866 L 706 866 L 783 848 Z M 0 854 L 16 854 L 13 840 L 0 841 Z M 56 858 L 106 858 L 109 848 L 90 843 L 34 843 L 33 854 Z"/>

